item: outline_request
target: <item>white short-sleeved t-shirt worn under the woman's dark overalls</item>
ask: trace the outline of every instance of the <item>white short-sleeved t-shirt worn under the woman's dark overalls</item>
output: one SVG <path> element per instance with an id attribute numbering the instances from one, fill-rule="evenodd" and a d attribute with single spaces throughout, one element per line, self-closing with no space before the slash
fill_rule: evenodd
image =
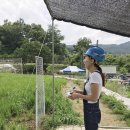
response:
<path id="1" fill-rule="evenodd" d="M 101 94 L 101 90 L 102 90 L 102 77 L 100 75 L 100 73 L 98 72 L 93 72 L 89 75 L 89 81 L 86 83 L 85 85 L 85 90 L 87 92 L 87 95 L 91 95 L 91 83 L 96 83 L 98 84 L 99 87 L 99 92 L 98 92 L 98 98 Z M 88 103 L 96 103 L 97 101 L 88 101 Z"/>

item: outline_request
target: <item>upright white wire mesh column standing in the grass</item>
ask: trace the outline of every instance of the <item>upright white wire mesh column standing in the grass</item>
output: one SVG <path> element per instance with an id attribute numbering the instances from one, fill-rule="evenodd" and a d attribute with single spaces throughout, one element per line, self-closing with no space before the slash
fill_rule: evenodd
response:
<path id="1" fill-rule="evenodd" d="M 36 59 L 36 130 L 40 128 L 42 117 L 45 115 L 45 91 L 43 81 L 43 58 Z"/>

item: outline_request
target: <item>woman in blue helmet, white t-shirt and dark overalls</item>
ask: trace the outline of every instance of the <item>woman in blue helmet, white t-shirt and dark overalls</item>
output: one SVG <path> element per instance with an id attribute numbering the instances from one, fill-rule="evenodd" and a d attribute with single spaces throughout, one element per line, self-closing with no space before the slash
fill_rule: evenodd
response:
<path id="1" fill-rule="evenodd" d="M 85 53 L 85 68 L 90 72 L 89 78 L 84 85 L 83 91 L 74 90 L 70 99 L 83 99 L 85 130 L 98 130 L 101 120 L 99 97 L 104 86 L 104 75 L 98 62 L 105 59 L 104 50 L 100 47 L 91 47 Z"/>

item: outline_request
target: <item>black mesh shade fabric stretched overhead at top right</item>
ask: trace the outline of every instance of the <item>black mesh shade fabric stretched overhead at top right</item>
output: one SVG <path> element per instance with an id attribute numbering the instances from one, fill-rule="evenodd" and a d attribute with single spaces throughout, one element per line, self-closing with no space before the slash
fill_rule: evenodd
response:
<path id="1" fill-rule="evenodd" d="M 130 37 L 130 0 L 44 0 L 54 19 Z"/>

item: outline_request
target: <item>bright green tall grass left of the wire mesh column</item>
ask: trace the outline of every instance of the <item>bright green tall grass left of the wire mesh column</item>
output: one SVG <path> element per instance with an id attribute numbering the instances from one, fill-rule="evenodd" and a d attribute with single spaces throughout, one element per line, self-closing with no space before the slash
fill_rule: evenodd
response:
<path id="1" fill-rule="evenodd" d="M 0 129 L 4 130 L 12 118 L 34 109 L 35 76 L 30 80 L 30 75 L 0 74 L 0 104 Z"/>

